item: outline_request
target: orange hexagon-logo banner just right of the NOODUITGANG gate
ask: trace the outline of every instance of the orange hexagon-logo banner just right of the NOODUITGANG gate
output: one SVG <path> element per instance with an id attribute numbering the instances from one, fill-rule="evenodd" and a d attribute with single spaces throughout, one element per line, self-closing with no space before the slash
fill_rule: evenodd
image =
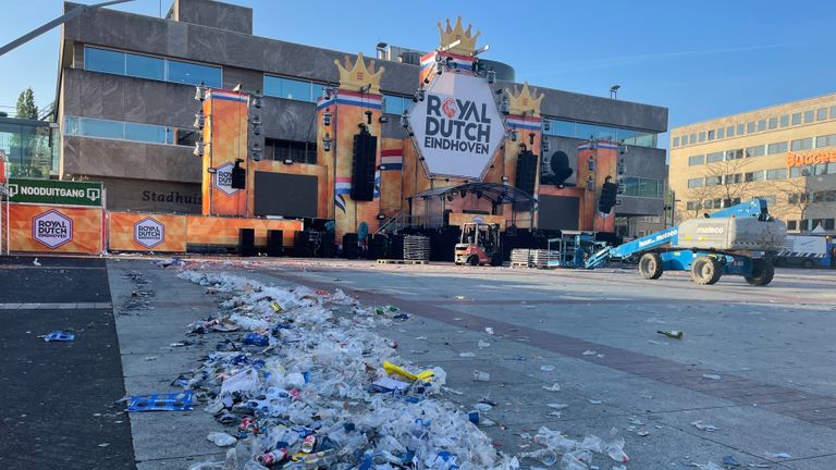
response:
<path id="1" fill-rule="evenodd" d="M 186 251 L 186 217 L 110 212 L 108 248 L 115 251 Z"/>

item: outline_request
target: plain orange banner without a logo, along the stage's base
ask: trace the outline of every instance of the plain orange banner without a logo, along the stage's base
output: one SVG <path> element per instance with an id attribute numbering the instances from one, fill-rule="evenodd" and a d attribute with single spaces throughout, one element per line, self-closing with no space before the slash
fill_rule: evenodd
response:
<path id="1" fill-rule="evenodd" d="M 238 230 L 255 228 L 256 246 L 267 245 L 267 231 L 280 230 L 285 247 L 293 246 L 296 232 L 303 230 L 298 220 L 186 217 L 186 243 L 197 245 L 237 245 Z"/>

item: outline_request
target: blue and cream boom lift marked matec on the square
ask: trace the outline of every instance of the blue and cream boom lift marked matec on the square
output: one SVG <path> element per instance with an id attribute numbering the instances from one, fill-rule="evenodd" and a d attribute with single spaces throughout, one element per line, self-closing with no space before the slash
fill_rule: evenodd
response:
<path id="1" fill-rule="evenodd" d="M 641 255 L 639 273 L 649 280 L 664 271 L 690 271 L 698 284 L 714 284 L 723 274 L 741 275 L 751 285 L 772 282 L 772 253 L 784 247 L 787 226 L 773 219 L 763 199 L 753 199 L 691 219 L 590 257 L 585 267 L 600 268 L 612 258 Z"/>

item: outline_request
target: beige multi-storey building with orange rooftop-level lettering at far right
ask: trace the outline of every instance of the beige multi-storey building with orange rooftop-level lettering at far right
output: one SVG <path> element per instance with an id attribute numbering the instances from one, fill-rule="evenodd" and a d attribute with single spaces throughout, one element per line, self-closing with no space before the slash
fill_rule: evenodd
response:
<path id="1" fill-rule="evenodd" d="M 671 131 L 681 221 L 761 197 L 792 233 L 834 234 L 836 94 Z"/>

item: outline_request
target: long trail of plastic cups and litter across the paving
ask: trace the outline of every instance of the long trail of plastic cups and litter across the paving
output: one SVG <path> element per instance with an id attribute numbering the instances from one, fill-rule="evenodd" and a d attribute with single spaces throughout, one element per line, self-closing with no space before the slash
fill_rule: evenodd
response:
<path id="1" fill-rule="evenodd" d="M 218 314 L 188 325 L 189 334 L 223 332 L 214 333 L 223 338 L 217 350 L 180 383 L 195 394 L 193 412 L 228 426 L 230 437 L 207 430 L 207 438 L 234 445 L 225 461 L 194 469 L 518 469 L 519 457 L 586 466 L 592 453 L 627 461 L 615 430 L 607 440 L 574 441 L 543 428 L 537 456 L 497 450 L 479 428 L 495 424 L 482 416 L 490 407 L 459 409 L 445 397 L 453 391 L 443 369 L 414 367 L 376 333 L 409 318 L 395 307 L 365 307 L 340 289 L 198 271 L 179 276 L 219 297 Z M 490 376 L 475 371 L 474 380 Z"/>

